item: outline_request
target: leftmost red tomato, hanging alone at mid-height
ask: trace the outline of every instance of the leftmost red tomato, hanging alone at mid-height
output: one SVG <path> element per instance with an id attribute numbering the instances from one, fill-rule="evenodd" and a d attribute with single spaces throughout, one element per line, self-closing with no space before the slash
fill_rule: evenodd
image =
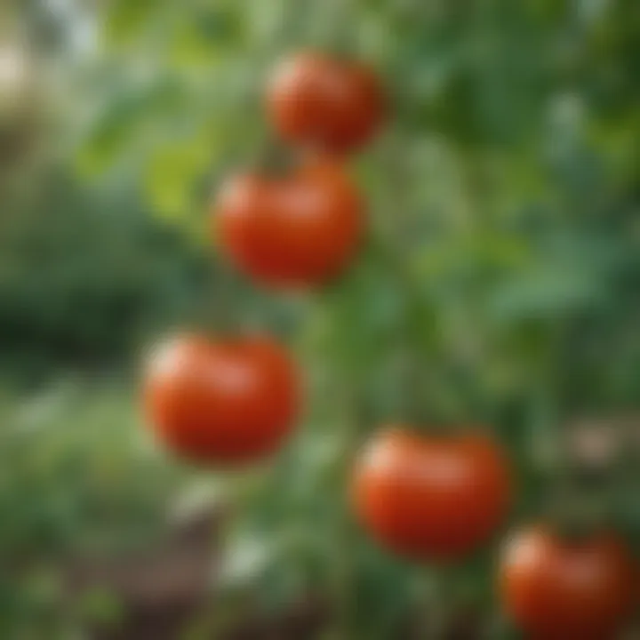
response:
<path id="1" fill-rule="evenodd" d="M 266 456 L 292 430 L 298 377 L 273 340 L 184 335 L 154 351 L 144 402 L 173 452 L 206 463 L 244 462 Z"/>

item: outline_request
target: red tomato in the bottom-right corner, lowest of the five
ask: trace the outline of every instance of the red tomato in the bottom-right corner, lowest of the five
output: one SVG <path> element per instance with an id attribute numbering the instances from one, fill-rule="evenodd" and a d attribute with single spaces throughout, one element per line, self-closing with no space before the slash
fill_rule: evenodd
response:
<path id="1" fill-rule="evenodd" d="M 502 599 L 537 640 L 608 640 L 633 608 L 633 566 L 615 535 L 563 540 L 543 526 L 532 527 L 505 546 Z"/>

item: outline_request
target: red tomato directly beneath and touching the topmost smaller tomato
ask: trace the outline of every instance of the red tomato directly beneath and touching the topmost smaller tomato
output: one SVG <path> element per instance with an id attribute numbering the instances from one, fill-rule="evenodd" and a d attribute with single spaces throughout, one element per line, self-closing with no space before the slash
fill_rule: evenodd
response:
<path id="1" fill-rule="evenodd" d="M 331 163 L 283 175 L 238 175 L 222 185 L 212 220 L 224 250 L 267 284 L 321 284 L 356 250 L 362 229 L 356 188 Z"/>

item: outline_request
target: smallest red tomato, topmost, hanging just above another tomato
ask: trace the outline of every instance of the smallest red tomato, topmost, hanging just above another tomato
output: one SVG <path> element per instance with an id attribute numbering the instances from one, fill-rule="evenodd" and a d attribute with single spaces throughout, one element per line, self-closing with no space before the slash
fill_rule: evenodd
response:
<path id="1" fill-rule="evenodd" d="M 267 108 L 284 140 L 343 154 L 372 139 L 384 119 L 385 100 L 369 68 L 303 52 L 274 69 Z"/>

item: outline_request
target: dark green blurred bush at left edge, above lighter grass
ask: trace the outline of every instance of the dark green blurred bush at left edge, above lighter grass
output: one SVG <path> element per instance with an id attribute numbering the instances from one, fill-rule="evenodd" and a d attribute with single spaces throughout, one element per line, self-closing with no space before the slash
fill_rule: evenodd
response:
<path id="1" fill-rule="evenodd" d="M 4 373 L 28 382 L 65 367 L 127 364 L 148 332 L 202 306 L 204 256 L 132 196 L 100 196 L 59 171 L 38 179 L 35 197 L 4 210 Z"/>

